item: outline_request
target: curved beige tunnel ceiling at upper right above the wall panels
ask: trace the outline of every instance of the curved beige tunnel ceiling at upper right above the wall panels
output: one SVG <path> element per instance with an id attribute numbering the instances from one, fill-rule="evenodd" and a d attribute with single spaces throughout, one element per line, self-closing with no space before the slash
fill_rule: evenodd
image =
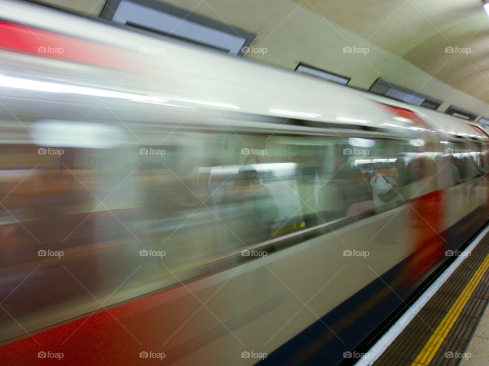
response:
<path id="1" fill-rule="evenodd" d="M 489 16 L 479 0 L 293 1 L 489 103 Z"/>

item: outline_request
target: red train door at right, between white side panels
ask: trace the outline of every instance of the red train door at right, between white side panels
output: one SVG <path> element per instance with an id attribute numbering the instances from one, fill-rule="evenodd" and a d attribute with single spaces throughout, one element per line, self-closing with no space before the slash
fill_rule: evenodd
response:
<path id="1" fill-rule="evenodd" d="M 443 144 L 436 132 L 417 113 L 387 106 L 396 124 L 413 131 L 411 150 L 406 155 L 406 182 L 404 199 L 408 214 L 408 232 L 411 255 L 406 261 L 406 286 L 416 283 L 433 268 L 444 255 L 445 243 L 441 236 L 444 210 L 443 192 L 437 176 L 443 164 Z"/>

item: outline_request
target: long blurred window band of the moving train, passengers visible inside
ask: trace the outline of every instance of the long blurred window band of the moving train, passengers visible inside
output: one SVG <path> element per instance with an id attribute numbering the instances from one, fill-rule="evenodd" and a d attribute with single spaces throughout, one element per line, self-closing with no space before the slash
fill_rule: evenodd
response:
<path id="1" fill-rule="evenodd" d="M 109 296 L 108 306 L 174 284 L 174 275 L 236 264 L 243 248 L 301 242 L 432 189 L 434 162 L 414 140 L 175 132 L 162 141 L 62 154 L 9 148 L 36 167 L 9 172 L 17 175 L 3 185 L 3 205 L 19 221 L 0 229 L 3 243 L 23 248 L 2 257 L 2 291 L 39 264 L 4 303 L 26 329 L 48 325 L 33 319 L 68 302 L 80 314 L 95 310 L 91 294 Z M 2 340 L 19 335 L 1 316 Z"/>

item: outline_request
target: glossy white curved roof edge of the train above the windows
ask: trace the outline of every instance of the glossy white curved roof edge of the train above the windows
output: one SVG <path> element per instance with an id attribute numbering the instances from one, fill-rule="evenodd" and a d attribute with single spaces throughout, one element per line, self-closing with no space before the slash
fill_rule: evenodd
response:
<path id="1" fill-rule="evenodd" d="M 79 41 L 90 48 L 86 44 L 88 41 L 124 51 L 120 54 L 93 54 L 92 64 L 103 57 L 112 58 L 114 67 L 131 62 L 142 63 L 144 67 L 140 65 L 136 72 L 128 75 L 124 85 L 135 92 L 160 97 L 173 104 L 192 106 L 195 102 L 199 108 L 387 128 L 382 125 L 390 116 L 387 111 L 340 85 L 241 57 L 134 33 L 104 22 L 81 19 L 38 5 L 6 0 L 0 3 L 0 10 L 4 19 L 28 26 L 34 32 L 39 28 L 63 35 L 60 47 L 66 45 L 69 48 L 70 42 Z M 51 38 L 51 41 L 53 47 L 57 46 L 56 38 Z M 141 53 L 141 47 L 161 52 Z M 68 57 L 68 53 L 65 51 L 61 58 Z M 47 57 L 41 55 L 38 58 Z M 50 70 L 56 72 L 56 68 Z M 139 71 L 146 72 L 146 75 L 141 77 Z M 151 77 L 147 75 L 149 72 Z M 83 72 L 79 75 L 83 80 Z M 112 80 L 101 75 L 98 84 L 110 88 Z"/>

